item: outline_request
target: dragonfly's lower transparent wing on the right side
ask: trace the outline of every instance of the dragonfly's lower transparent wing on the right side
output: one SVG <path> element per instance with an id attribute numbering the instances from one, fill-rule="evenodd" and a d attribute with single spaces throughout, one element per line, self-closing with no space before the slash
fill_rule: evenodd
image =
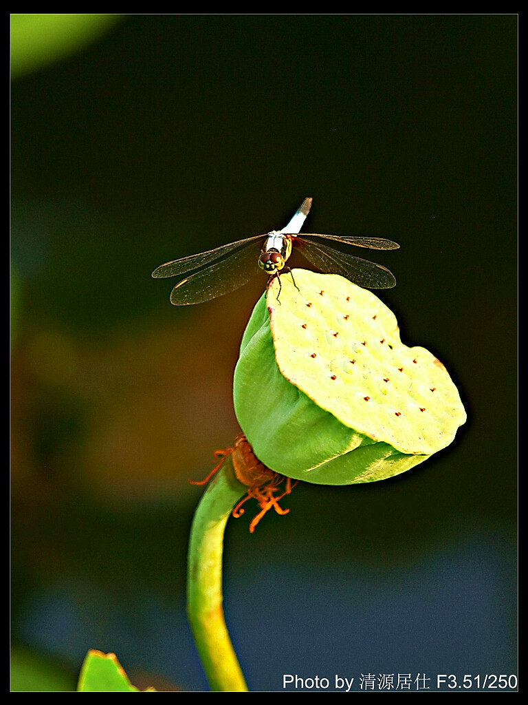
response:
<path id="1" fill-rule="evenodd" d="M 394 274 L 381 264 L 339 252 L 312 240 L 296 239 L 301 242 L 299 249 L 306 259 L 325 274 L 341 274 L 367 289 L 390 289 L 396 285 Z"/>

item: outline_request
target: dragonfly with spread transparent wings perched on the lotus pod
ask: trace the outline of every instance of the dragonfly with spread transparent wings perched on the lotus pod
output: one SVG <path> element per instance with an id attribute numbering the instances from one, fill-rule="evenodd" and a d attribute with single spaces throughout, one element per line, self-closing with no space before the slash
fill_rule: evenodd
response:
<path id="1" fill-rule="evenodd" d="M 170 302 L 175 306 L 199 304 L 244 286 L 256 271 L 255 263 L 268 274 L 269 285 L 281 272 L 284 274 L 289 271 L 286 262 L 293 247 L 296 247 L 308 262 L 324 274 L 341 274 L 353 283 L 369 289 L 389 289 L 396 285 L 394 274 L 381 264 L 341 252 L 318 240 L 368 247 L 371 250 L 397 250 L 398 243 L 384 238 L 356 235 L 303 233 L 301 237 L 298 233 L 311 205 L 312 199 L 305 198 L 282 230 L 253 235 L 198 255 L 165 262 L 153 271 L 152 276 L 157 279 L 199 270 L 179 281 L 170 293 Z"/>

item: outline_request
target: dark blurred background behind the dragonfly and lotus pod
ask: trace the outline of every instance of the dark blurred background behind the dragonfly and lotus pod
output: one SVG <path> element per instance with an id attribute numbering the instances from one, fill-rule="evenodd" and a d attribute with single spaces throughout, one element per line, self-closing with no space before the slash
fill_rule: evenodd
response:
<path id="1" fill-rule="evenodd" d="M 58 16 L 58 51 L 54 17 L 11 16 L 12 688 L 75 688 L 89 648 L 141 687 L 207 688 L 187 480 L 239 430 L 265 276 L 177 308 L 151 271 L 308 195 L 305 231 L 400 243 L 379 298 L 468 421 L 401 476 L 228 522 L 249 687 L 516 673 L 517 17 Z"/>

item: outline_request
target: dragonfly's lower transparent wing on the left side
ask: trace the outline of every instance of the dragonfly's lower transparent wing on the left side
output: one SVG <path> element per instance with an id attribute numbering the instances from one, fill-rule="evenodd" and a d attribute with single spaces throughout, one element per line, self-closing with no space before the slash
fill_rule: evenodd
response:
<path id="1" fill-rule="evenodd" d="M 175 306 L 200 304 L 244 286 L 258 271 L 258 247 L 257 243 L 251 243 L 251 240 L 256 239 L 249 238 L 246 247 L 231 257 L 178 282 L 170 293 L 170 302 Z"/>

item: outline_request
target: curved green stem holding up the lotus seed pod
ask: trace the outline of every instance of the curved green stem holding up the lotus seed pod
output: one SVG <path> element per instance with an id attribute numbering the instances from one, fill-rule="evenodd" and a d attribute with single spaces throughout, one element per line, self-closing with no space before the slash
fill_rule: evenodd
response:
<path id="1" fill-rule="evenodd" d="M 187 614 L 211 690 L 247 691 L 222 608 L 224 529 L 247 487 L 227 458 L 194 513 L 187 568 Z"/>

